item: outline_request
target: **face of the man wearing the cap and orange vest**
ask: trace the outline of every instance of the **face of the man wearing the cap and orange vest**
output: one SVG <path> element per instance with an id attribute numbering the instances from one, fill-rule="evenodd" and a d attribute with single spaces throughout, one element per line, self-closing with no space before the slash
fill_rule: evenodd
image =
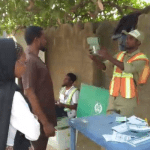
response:
<path id="1" fill-rule="evenodd" d="M 132 50 L 139 46 L 139 42 L 131 35 L 127 35 L 126 39 L 126 49 Z"/>

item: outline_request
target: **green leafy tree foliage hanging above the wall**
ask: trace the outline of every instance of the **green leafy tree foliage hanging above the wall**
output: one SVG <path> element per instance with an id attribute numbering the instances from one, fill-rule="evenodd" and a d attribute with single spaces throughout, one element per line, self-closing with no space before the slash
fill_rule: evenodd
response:
<path id="1" fill-rule="evenodd" d="M 32 3 L 33 2 L 33 3 Z M 10 33 L 19 27 L 38 25 L 44 28 L 60 23 L 118 20 L 148 6 L 142 0 L 103 0 L 104 11 L 97 0 L 1 0 L 0 29 Z M 33 7 L 32 7 L 33 4 Z"/>

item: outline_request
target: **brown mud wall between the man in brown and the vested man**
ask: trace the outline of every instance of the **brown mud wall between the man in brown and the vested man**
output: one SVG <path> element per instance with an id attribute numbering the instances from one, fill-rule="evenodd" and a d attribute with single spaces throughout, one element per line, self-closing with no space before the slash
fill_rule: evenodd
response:
<path id="1" fill-rule="evenodd" d="M 62 81 L 68 72 L 77 75 L 76 86 L 81 83 L 108 88 L 109 79 L 89 59 L 87 37 L 99 36 L 101 45 L 114 54 L 117 44 L 111 41 L 116 23 L 77 23 L 63 24 L 59 28 L 48 28 L 45 33 L 48 40 L 46 63 L 54 83 L 55 98 L 58 99 Z"/>

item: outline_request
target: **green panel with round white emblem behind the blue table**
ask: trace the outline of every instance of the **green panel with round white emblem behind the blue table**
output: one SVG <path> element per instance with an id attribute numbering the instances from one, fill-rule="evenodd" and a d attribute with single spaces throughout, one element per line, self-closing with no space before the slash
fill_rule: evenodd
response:
<path id="1" fill-rule="evenodd" d="M 82 84 L 78 100 L 77 118 L 106 114 L 108 99 L 108 90 Z"/>

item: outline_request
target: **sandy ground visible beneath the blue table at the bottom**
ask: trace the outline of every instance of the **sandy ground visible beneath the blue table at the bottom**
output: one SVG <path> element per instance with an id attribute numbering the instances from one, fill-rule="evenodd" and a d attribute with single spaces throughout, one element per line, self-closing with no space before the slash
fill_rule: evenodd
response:
<path id="1" fill-rule="evenodd" d="M 51 146 L 47 146 L 47 150 L 56 150 Z M 77 150 L 101 150 L 101 147 L 90 141 L 81 133 L 78 133 Z"/>

